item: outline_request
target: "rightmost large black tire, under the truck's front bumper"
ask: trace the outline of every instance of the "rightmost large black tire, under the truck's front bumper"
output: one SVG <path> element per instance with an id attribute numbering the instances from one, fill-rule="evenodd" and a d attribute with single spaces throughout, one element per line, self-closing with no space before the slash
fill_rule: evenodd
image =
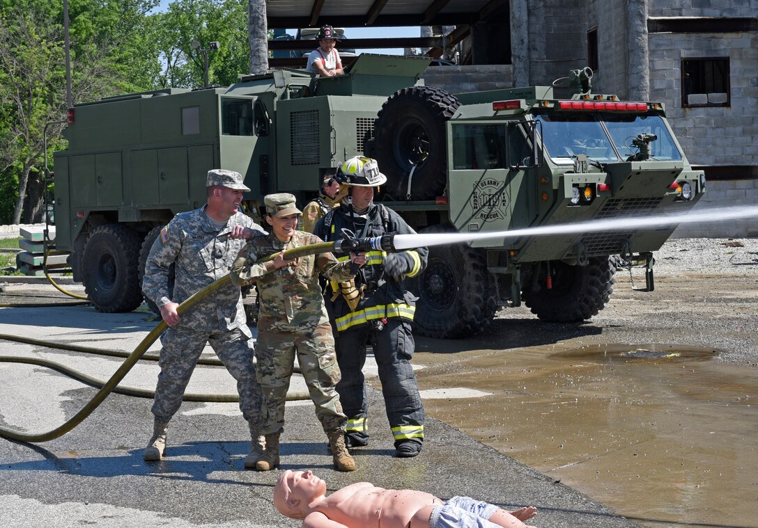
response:
<path id="1" fill-rule="evenodd" d="M 615 284 L 615 257 L 589 259 L 587 266 L 569 266 L 550 262 L 552 287 L 547 289 L 544 277 L 537 281 L 539 290 L 526 285 L 522 299 L 543 321 L 581 322 L 597 315 L 610 300 Z"/>

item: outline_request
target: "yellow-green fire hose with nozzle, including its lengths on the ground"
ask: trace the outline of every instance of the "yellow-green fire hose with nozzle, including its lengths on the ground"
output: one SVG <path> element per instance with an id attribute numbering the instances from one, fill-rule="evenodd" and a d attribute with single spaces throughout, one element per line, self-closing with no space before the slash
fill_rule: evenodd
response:
<path id="1" fill-rule="evenodd" d="M 381 237 L 373 237 L 373 238 L 364 238 L 364 239 L 358 239 L 355 238 L 352 233 L 349 231 L 346 231 L 343 233 L 343 236 L 346 238 L 343 238 L 343 240 L 335 241 L 335 242 L 321 242 L 320 244 L 311 244 L 309 246 L 303 246 L 303 247 L 296 247 L 291 250 L 287 250 L 284 252 L 284 258 L 288 260 L 296 259 L 300 256 L 308 256 L 318 253 L 326 253 L 330 251 L 339 251 L 339 252 L 362 252 L 362 251 L 368 251 L 368 250 L 385 250 L 385 251 L 396 251 L 396 248 L 393 244 L 393 238 L 395 235 L 393 234 L 386 234 Z M 273 260 L 277 254 L 272 254 L 269 256 L 266 256 L 265 258 L 258 259 L 258 262 L 267 262 L 268 260 Z M 224 275 L 222 278 L 218 278 L 216 281 L 212 282 L 211 284 L 208 284 L 208 286 L 203 287 L 201 290 L 190 296 L 187 300 L 185 300 L 183 303 L 181 303 L 177 307 L 177 313 L 180 315 L 183 312 L 188 311 L 189 309 L 192 309 L 193 306 L 195 306 L 197 303 L 199 303 L 200 300 L 202 300 L 203 297 L 205 297 L 208 294 L 211 294 L 215 290 L 217 290 L 219 287 L 224 286 L 224 284 L 227 284 L 230 281 L 230 275 Z M 143 338 L 143 340 L 139 343 L 139 345 L 136 346 L 136 348 L 133 350 L 132 353 L 129 353 L 126 356 L 126 360 L 124 363 L 121 364 L 119 368 L 114 372 L 111 377 L 105 381 L 101 382 L 99 380 L 95 380 L 91 377 L 87 377 L 86 375 L 75 373 L 75 377 L 77 377 L 78 380 L 83 381 L 83 383 L 94 385 L 96 387 L 100 387 L 98 392 L 95 396 L 92 397 L 92 399 L 89 400 L 89 402 L 84 405 L 83 408 L 80 409 L 79 412 L 77 412 L 76 415 L 74 415 L 69 420 L 65 421 L 64 424 L 61 424 L 60 426 L 56 427 L 53 430 L 50 430 L 46 433 L 23 433 L 18 430 L 9 429 L 7 427 L 0 427 L 0 436 L 3 438 L 8 439 L 14 439 L 20 442 L 47 442 L 49 440 L 58 438 L 59 436 L 63 436 L 65 433 L 69 432 L 70 430 L 74 429 L 74 427 L 77 427 L 78 424 L 80 424 L 82 421 L 85 420 L 92 412 L 105 400 L 105 398 L 108 396 L 108 394 L 115 392 L 115 393 L 125 393 L 130 394 L 132 396 L 140 396 L 140 397 L 152 397 L 152 391 L 146 391 L 141 389 L 134 389 L 134 388 L 127 388 L 127 387 L 118 387 L 118 384 L 121 382 L 121 380 L 124 379 L 124 377 L 128 374 L 128 372 L 133 368 L 134 365 L 136 365 L 136 362 L 139 361 L 139 359 L 157 359 L 157 356 L 149 356 L 146 355 L 147 349 L 152 345 L 152 343 L 155 342 L 156 339 L 168 328 L 168 325 L 164 321 L 160 321 L 158 325 L 152 329 L 152 331 L 149 332 L 149 334 L 146 335 L 146 337 Z M 46 342 L 40 342 L 36 340 L 30 340 L 26 338 L 17 338 L 13 336 L 6 336 L 6 335 L 0 335 L 0 339 L 11 339 L 11 340 L 17 340 L 20 342 L 25 343 L 33 343 L 33 344 L 39 344 L 42 343 L 44 346 L 51 346 L 51 347 L 57 347 L 57 348 L 67 348 L 72 349 L 77 352 L 92 352 L 93 349 L 89 349 L 88 347 L 82 347 L 82 346 L 53 346 L 50 343 Z M 106 352 L 107 353 L 107 352 Z M 121 355 L 124 353 L 110 353 L 108 355 Z M 212 360 L 206 360 L 208 363 L 204 363 L 203 360 L 201 360 L 199 363 L 201 364 L 212 364 L 212 365 L 218 365 L 221 364 L 221 362 L 213 362 L 210 363 Z M 27 363 L 27 364 L 34 364 L 34 365 L 42 365 L 49 368 L 55 368 L 55 370 L 60 371 L 67 375 L 72 375 L 74 372 L 72 369 L 65 367 L 64 365 L 60 365 L 55 362 L 46 362 L 44 360 L 39 359 L 28 359 L 28 358 L 18 358 L 18 357 L 7 357 L 7 356 L 0 356 L 0 362 L 17 362 L 17 363 Z M 308 399 L 309 395 L 308 393 L 290 393 L 287 395 L 287 400 L 293 400 L 293 399 Z M 186 394 L 184 397 L 185 401 L 202 401 L 202 402 L 236 402 L 239 401 L 238 396 L 233 395 L 208 395 L 208 394 Z"/>

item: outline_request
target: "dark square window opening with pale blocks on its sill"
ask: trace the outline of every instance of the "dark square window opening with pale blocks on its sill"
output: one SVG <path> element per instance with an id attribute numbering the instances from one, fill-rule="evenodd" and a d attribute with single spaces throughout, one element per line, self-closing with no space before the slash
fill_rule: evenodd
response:
<path id="1" fill-rule="evenodd" d="M 729 106 L 729 57 L 682 59 L 683 107 Z"/>

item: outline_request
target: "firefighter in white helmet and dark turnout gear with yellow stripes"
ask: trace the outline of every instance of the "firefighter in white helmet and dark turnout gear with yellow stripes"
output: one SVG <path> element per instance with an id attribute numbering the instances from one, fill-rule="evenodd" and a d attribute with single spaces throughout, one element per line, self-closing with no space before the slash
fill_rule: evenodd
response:
<path id="1" fill-rule="evenodd" d="M 318 221 L 314 233 L 324 241 L 338 241 L 352 232 L 358 238 L 383 234 L 415 234 L 397 213 L 374 203 L 374 191 L 387 182 L 376 160 L 352 157 L 337 170 L 348 197 L 340 207 Z M 417 297 L 403 279 L 424 271 L 425 247 L 398 253 L 370 251 L 354 282 L 330 283 L 324 293 L 335 330 L 337 362 L 342 380 L 337 384 L 347 415 L 346 445 L 368 445 L 368 401 L 363 365 L 371 344 L 379 368 L 384 405 L 392 429 L 396 455 L 409 458 L 424 443 L 424 407 L 418 394 L 411 359 L 414 342 L 411 321 Z M 336 253 L 338 259 L 348 254 Z"/>

